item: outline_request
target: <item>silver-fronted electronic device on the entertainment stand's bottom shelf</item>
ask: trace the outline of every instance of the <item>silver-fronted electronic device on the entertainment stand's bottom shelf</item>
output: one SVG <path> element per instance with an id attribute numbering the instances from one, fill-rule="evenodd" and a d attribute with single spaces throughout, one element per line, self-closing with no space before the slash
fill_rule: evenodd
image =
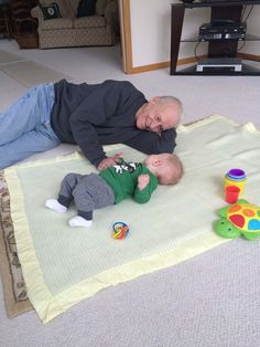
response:
<path id="1" fill-rule="evenodd" d="M 239 57 L 208 57 L 199 62 L 197 72 L 241 72 L 242 64 Z"/>

